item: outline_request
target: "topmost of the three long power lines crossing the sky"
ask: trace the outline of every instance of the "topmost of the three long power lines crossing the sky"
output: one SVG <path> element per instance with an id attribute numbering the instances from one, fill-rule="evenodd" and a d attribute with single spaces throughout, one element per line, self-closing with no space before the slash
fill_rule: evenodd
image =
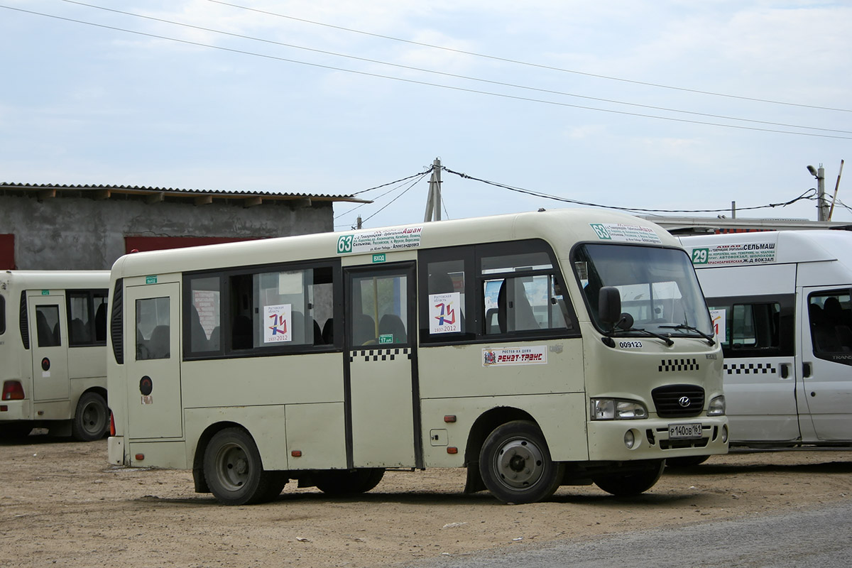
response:
<path id="1" fill-rule="evenodd" d="M 595 77 L 595 78 L 598 78 L 598 79 L 607 79 L 608 81 L 620 81 L 622 83 L 633 83 L 633 84 L 637 84 L 637 85 L 644 85 L 646 87 L 656 87 L 658 89 L 671 89 L 671 90 L 676 90 L 676 91 L 683 91 L 683 92 L 686 92 L 686 93 L 694 93 L 694 94 L 697 94 L 697 95 L 711 95 L 711 96 L 726 97 L 728 99 L 751 100 L 752 102 L 764 102 L 764 103 L 769 103 L 769 104 L 772 104 L 772 105 L 800 106 L 800 107 L 803 107 L 803 108 L 813 108 L 813 109 L 818 109 L 818 110 L 821 110 L 821 111 L 852 112 L 852 109 L 847 109 L 847 108 L 832 108 L 831 106 L 806 105 L 806 104 L 802 104 L 802 103 L 787 102 L 787 101 L 783 101 L 783 100 L 759 99 L 757 97 L 748 97 L 748 96 L 741 96 L 741 95 L 729 95 L 729 94 L 726 94 L 726 93 L 716 93 L 716 92 L 713 92 L 713 91 L 704 91 L 704 90 L 699 90 L 699 89 L 688 89 L 688 88 L 684 88 L 684 87 L 675 87 L 673 85 L 665 85 L 665 84 L 662 84 L 662 83 L 648 83 L 646 81 L 635 81 L 635 80 L 632 80 L 632 79 L 625 79 L 625 78 L 622 78 L 622 77 L 610 77 L 610 76 L 607 76 L 607 75 L 598 75 L 596 73 L 587 73 L 587 72 L 575 71 L 573 69 L 565 69 L 563 67 L 547 66 L 547 65 L 542 65 L 542 64 L 538 64 L 538 63 L 531 63 L 531 62 L 528 62 L 528 61 L 513 60 L 513 59 L 506 58 L 506 57 L 498 57 L 496 55 L 480 54 L 480 53 L 475 53 L 473 51 L 465 51 L 464 49 L 448 48 L 446 46 L 435 45 L 433 43 L 415 42 L 415 41 L 412 41 L 410 39 L 403 39 L 401 37 L 384 36 L 384 35 L 379 34 L 379 33 L 363 32 L 361 30 L 355 30 L 355 29 L 349 28 L 349 27 L 333 26 L 331 24 L 325 24 L 323 22 L 318 22 L 318 21 L 314 21 L 314 20 L 305 20 L 303 18 L 296 18 L 294 16 L 288 16 L 288 15 L 285 15 L 285 14 L 277 14 L 275 12 L 269 12 L 267 10 L 249 8 L 248 6 L 240 6 L 239 4 L 234 4 L 234 3 L 229 3 L 229 2 L 222 2 L 222 0 L 208 0 L 208 2 L 212 2 L 212 3 L 216 3 L 216 4 L 222 4 L 224 6 L 230 6 L 232 8 L 249 10 L 250 12 L 257 12 L 259 14 L 267 14 L 267 15 L 271 15 L 271 16 L 276 16 L 278 18 L 285 18 L 287 20 L 301 21 L 301 22 L 304 22 L 306 24 L 312 24 L 314 26 L 330 27 L 330 28 L 333 28 L 333 29 L 336 29 L 336 30 L 342 30 L 343 32 L 360 33 L 360 34 L 365 35 L 365 36 L 379 37 L 379 38 L 382 38 L 382 39 L 389 39 L 389 40 L 392 40 L 394 42 L 410 43 L 412 45 L 419 45 L 419 46 L 425 47 L 425 48 L 442 49 L 444 51 L 452 51 L 454 53 L 463 54 L 463 55 L 473 55 L 474 57 L 482 57 L 482 58 L 490 59 L 490 60 L 504 61 L 505 63 L 514 63 L 515 65 L 538 67 L 539 69 L 548 69 L 550 71 L 573 73 L 573 74 L 576 74 L 576 75 L 584 75 L 585 77 Z"/>

